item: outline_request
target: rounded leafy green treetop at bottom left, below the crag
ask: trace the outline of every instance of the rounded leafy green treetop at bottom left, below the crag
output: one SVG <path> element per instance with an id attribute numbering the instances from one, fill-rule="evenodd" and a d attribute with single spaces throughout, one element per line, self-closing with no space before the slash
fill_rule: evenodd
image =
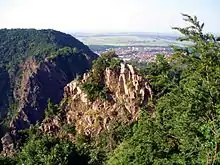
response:
<path id="1" fill-rule="evenodd" d="M 18 154 L 18 164 L 86 164 L 72 143 L 50 136 L 33 136 Z"/>

